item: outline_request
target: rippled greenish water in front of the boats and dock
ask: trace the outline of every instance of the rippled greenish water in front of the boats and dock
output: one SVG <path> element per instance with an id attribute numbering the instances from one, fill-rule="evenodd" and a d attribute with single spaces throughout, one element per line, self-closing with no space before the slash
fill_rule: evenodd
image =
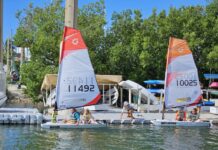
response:
<path id="1" fill-rule="evenodd" d="M 40 126 L 0 126 L 5 150 L 145 150 L 218 149 L 218 127 L 182 128 L 151 125 L 109 126 L 104 129 L 41 129 Z"/>

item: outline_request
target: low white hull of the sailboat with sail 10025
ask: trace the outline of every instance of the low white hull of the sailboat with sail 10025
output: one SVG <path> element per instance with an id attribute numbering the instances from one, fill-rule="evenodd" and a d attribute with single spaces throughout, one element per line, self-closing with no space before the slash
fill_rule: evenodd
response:
<path id="1" fill-rule="evenodd" d="M 151 123 L 155 126 L 182 126 L 182 127 L 210 127 L 210 122 L 190 122 L 190 121 L 175 121 L 175 120 L 152 120 Z"/>

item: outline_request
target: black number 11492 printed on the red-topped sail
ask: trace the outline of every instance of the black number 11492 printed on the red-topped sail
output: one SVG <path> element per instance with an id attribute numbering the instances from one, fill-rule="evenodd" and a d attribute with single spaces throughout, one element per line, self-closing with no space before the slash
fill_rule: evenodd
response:
<path id="1" fill-rule="evenodd" d="M 68 85 L 68 92 L 94 92 L 95 85 Z"/>

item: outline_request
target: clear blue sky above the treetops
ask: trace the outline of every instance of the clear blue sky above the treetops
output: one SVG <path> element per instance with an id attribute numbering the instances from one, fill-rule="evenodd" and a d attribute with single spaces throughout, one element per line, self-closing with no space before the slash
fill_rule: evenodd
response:
<path id="1" fill-rule="evenodd" d="M 22 10 L 28 6 L 29 3 L 33 3 L 34 6 L 45 7 L 50 4 L 52 0 L 3 0 L 3 39 L 7 39 L 11 35 L 16 33 L 18 27 L 18 20 L 15 15 L 18 10 Z M 90 2 L 96 2 L 98 0 L 78 0 L 79 8 Z M 169 11 L 170 7 L 179 8 L 181 6 L 195 6 L 207 4 L 206 0 L 105 0 L 106 4 L 106 19 L 108 25 L 110 25 L 110 19 L 113 12 L 121 12 L 126 9 L 138 9 L 142 12 L 143 17 L 149 17 L 152 14 L 154 8 L 157 12 L 162 10 Z"/>

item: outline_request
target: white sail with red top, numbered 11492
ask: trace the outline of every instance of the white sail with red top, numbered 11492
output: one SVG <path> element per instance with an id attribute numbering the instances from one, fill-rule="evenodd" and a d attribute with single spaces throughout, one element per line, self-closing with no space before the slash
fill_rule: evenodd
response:
<path id="1" fill-rule="evenodd" d="M 56 93 L 59 110 L 94 105 L 101 98 L 86 44 L 70 27 L 64 28 Z"/>

